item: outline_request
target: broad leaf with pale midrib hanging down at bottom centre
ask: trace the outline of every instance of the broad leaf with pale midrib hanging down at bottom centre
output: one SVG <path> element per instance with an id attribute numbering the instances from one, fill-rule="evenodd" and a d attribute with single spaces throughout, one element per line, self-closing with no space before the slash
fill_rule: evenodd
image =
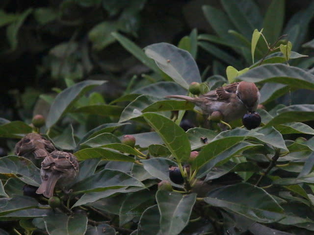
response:
<path id="1" fill-rule="evenodd" d="M 196 193 L 182 195 L 177 192 L 158 190 L 156 201 L 160 212 L 160 233 L 178 235 L 188 224 Z"/>

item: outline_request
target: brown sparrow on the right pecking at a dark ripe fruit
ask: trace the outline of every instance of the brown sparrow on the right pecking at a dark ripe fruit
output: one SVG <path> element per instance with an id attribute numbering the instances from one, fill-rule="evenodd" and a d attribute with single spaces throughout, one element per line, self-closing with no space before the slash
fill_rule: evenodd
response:
<path id="1" fill-rule="evenodd" d="M 229 122 L 242 118 L 247 112 L 254 112 L 259 104 L 260 92 L 254 83 L 241 81 L 217 88 L 198 97 L 185 95 L 168 95 L 166 97 L 190 101 L 209 116 L 212 112 L 219 111 L 222 120 Z"/>

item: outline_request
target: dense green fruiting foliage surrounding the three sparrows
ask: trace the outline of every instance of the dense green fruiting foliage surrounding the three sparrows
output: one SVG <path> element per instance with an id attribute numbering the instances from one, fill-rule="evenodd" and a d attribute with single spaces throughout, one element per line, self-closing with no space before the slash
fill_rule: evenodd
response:
<path id="1" fill-rule="evenodd" d="M 35 30 L 25 25 L 36 23 L 41 36 L 70 36 L 53 48 L 47 40 L 49 52 L 36 68 L 40 88 L 28 84 L 22 96 L 14 94 L 22 102 L 18 114 L 6 107 L 0 118 L 9 152 L 0 158 L 0 234 L 312 234 L 314 59 L 308 55 L 314 41 L 307 37 L 314 2 L 285 21 L 284 0 L 271 1 L 263 16 L 254 1 L 221 0 L 220 8 L 202 8 L 215 35 L 195 28 L 177 46 L 143 49 L 130 37 L 137 36 L 149 3 L 121 2 L 65 0 L 16 14 L 0 11 L 0 33 L 9 45 L 2 57 L 22 53 L 20 39 Z M 21 36 L 21 29 L 29 34 Z M 108 60 L 111 46 L 133 57 Z M 104 51 L 107 57 L 99 58 Z M 200 59 L 207 52 L 215 58 L 209 77 Z M 128 70 L 140 74 L 130 78 L 121 67 L 134 58 L 144 66 Z M 165 98 L 241 80 L 261 91 L 262 124 L 252 130 L 240 120 L 221 129 L 192 103 Z M 193 82 L 199 91 L 191 90 Z M 42 127 L 38 116 L 31 121 L 38 114 L 45 116 Z M 14 155 L 15 144 L 31 132 L 78 158 L 69 193 L 55 190 L 49 200 L 35 193 L 40 166 Z"/>

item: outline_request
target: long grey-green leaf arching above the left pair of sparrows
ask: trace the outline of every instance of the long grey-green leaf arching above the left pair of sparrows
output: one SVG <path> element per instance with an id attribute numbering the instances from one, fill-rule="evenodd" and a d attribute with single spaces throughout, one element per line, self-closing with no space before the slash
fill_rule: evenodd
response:
<path id="1" fill-rule="evenodd" d="M 54 125 L 63 114 L 72 108 L 74 102 L 78 100 L 80 96 L 93 87 L 104 83 L 105 81 L 86 80 L 79 82 L 59 93 L 50 107 L 50 112 L 46 120 L 46 126 L 48 128 L 52 127 L 52 125 Z"/>

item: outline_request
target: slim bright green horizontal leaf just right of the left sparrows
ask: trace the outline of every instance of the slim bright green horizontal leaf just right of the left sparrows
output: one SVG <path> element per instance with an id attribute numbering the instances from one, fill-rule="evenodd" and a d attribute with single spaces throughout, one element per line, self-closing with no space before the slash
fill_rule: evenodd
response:
<path id="1" fill-rule="evenodd" d="M 101 158 L 108 161 L 135 162 L 135 159 L 119 152 L 111 151 L 105 148 L 84 148 L 74 153 L 78 160 L 91 158 Z"/>

